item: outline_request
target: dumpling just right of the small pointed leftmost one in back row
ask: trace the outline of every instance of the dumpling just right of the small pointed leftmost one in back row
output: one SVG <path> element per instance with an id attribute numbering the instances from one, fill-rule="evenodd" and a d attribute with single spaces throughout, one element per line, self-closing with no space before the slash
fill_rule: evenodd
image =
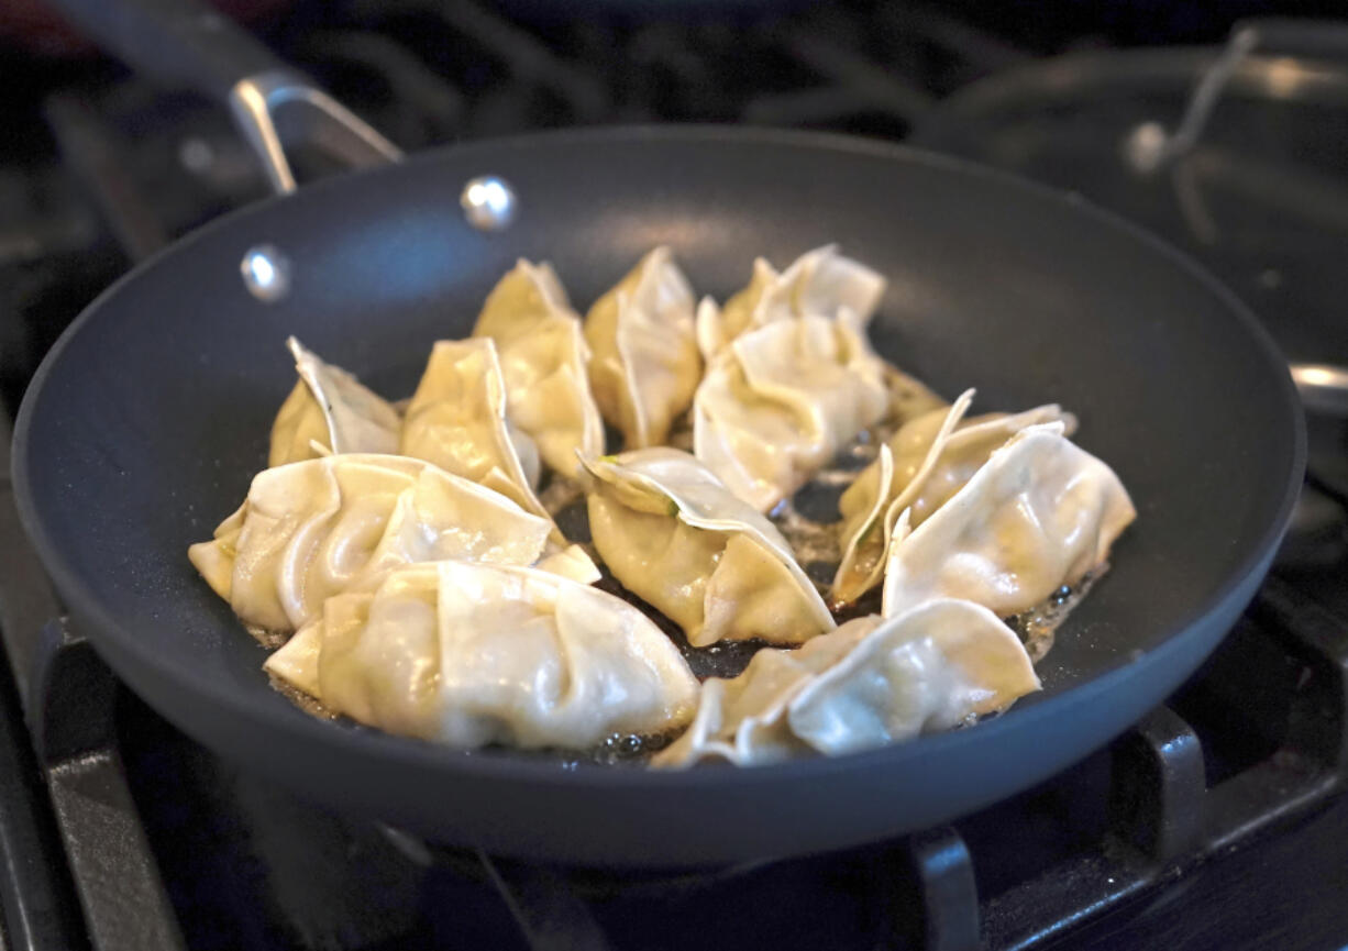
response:
<path id="1" fill-rule="evenodd" d="M 506 383 L 491 337 L 435 343 L 407 405 L 400 451 L 550 517 L 534 494 L 538 451 L 507 422 Z"/>

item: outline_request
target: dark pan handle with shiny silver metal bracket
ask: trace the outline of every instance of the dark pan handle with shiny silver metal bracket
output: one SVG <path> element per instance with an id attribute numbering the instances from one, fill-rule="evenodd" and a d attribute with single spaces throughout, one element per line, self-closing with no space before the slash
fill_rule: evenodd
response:
<path id="1" fill-rule="evenodd" d="M 272 190 L 295 190 L 283 141 L 305 141 L 355 168 L 402 152 L 204 0 L 54 0 L 89 39 L 160 84 L 225 105 Z"/>

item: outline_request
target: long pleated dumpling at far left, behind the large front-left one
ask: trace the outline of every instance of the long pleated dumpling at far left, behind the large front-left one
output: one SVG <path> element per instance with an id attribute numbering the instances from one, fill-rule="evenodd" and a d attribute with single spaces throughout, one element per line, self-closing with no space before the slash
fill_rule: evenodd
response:
<path id="1" fill-rule="evenodd" d="M 248 498 L 187 555 L 257 633 L 287 633 L 325 598 L 412 562 L 532 564 L 551 523 L 402 455 L 329 455 L 259 473 Z"/>

